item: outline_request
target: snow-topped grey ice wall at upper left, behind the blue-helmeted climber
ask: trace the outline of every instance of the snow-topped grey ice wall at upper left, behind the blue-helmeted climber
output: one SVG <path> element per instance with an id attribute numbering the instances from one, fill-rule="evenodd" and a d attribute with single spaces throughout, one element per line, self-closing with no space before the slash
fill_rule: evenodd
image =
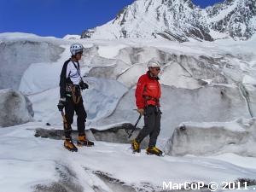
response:
<path id="1" fill-rule="evenodd" d="M 23 73 L 32 63 L 56 61 L 64 49 L 47 38 L 26 33 L 10 34 L 0 34 L 0 89 L 18 90 Z"/>

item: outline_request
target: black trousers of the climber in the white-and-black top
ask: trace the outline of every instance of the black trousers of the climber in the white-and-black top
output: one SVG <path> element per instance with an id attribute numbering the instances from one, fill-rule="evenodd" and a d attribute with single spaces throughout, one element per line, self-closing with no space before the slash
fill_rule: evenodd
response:
<path id="1" fill-rule="evenodd" d="M 84 136 L 85 135 L 85 121 L 87 118 L 87 113 L 84 110 L 84 104 L 83 104 L 83 99 L 81 97 L 79 103 L 74 103 L 73 98 L 67 98 L 67 105 L 65 106 L 65 116 L 67 119 L 67 128 L 65 128 L 64 125 L 64 131 L 65 131 L 65 137 L 71 139 L 71 132 L 72 132 L 72 127 L 71 125 L 73 124 L 73 114 L 74 112 L 77 113 L 78 119 L 77 119 L 77 124 L 78 124 L 78 131 L 79 131 L 79 136 Z"/>

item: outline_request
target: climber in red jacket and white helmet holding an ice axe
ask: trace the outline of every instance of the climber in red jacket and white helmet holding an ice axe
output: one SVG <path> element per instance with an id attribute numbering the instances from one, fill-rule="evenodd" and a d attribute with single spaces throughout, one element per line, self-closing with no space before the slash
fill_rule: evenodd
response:
<path id="1" fill-rule="evenodd" d="M 140 143 L 149 135 L 147 154 L 162 155 L 162 151 L 155 147 L 160 133 L 160 96 L 161 89 L 158 75 L 160 62 L 152 59 L 148 61 L 148 72 L 143 74 L 137 82 L 136 104 L 137 112 L 144 115 L 144 126 L 136 139 L 131 143 L 134 152 L 140 153 Z"/>

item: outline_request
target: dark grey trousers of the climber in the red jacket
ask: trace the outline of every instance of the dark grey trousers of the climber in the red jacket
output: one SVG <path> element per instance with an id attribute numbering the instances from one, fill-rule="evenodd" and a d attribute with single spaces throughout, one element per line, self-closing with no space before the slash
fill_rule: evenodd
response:
<path id="1" fill-rule="evenodd" d="M 160 133 L 160 119 L 161 112 L 159 107 L 149 105 L 145 108 L 144 126 L 136 138 L 138 143 L 141 143 L 149 135 L 148 147 L 155 147 L 157 137 Z"/>

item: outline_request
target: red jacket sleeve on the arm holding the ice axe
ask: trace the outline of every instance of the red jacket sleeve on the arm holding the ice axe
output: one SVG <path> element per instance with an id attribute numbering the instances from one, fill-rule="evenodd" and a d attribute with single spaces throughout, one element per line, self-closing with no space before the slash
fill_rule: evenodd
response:
<path id="1" fill-rule="evenodd" d="M 144 108 L 145 107 L 145 99 L 143 97 L 143 91 L 144 91 L 145 85 L 146 84 L 145 84 L 145 81 L 144 81 L 143 76 L 142 76 L 137 81 L 137 88 L 136 88 L 136 91 L 135 91 L 137 108 Z"/>

